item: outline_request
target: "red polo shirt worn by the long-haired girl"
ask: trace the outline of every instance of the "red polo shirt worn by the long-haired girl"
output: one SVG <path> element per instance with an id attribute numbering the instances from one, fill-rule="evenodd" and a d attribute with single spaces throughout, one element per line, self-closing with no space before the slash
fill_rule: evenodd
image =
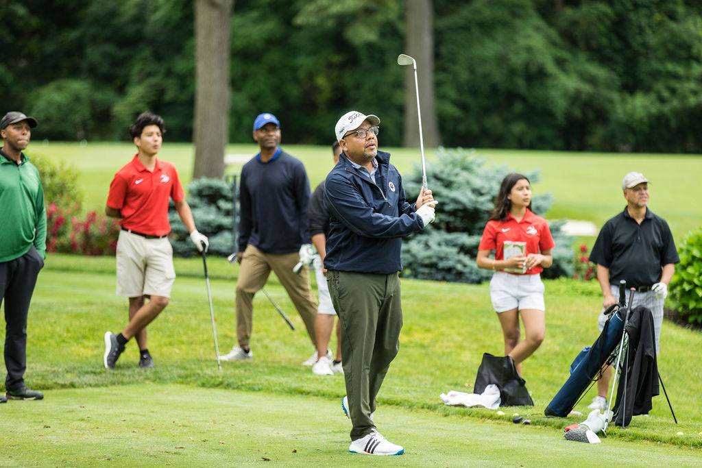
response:
<path id="1" fill-rule="evenodd" d="M 526 255 L 550 250 L 555 246 L 546 220 L 531 213 L 529 208 L 527 208 L 524 218 L 519 222 L 511 214 L 507 215 L 505 221 L 488 221 L 478 250 L 495 250 L 495 260 L 505 260 L 503 258 L 505 241 L 526 242 Z M 543 267 L 536 265 L 536 267 L 528 269 L 525 274 L 541 272 L 543 272 Z"/>

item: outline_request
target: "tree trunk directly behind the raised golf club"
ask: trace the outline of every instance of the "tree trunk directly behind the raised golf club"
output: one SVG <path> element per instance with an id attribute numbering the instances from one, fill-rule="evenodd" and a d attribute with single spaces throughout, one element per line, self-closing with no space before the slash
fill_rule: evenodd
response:
<path id="1" fill-rule="evenodd" d="M 419 102 L 424 145 L 441 145 L 434 100 L 434 12 L 431 0 L 405 1 L 405 50 L 417 62 Z M 419 146 L 417 96 L 414 71 L 407 66 L 404 75 L 404 133 L 402 145 Z"/>

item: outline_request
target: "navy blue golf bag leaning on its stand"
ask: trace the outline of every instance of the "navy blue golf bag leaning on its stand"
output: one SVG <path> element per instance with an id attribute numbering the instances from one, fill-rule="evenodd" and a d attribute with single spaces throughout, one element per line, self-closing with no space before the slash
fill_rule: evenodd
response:
<path id="1" fill-rule="evenodd" d="M 624 285 L 620 285 L 618 304 L 611 305 L 603 312 L 609 314 L 609 319 L 604 323 L 602 333 L 590 349 L 583 349 L 573 361 L 570 377 L 546 406 L 543 412 L 545 415 L 567 416 L 585 392 L 590 381 L 596 380 L 600 375 L 602 365 L 607 362 L 614 349 L 621 342 L 627 314 L 624 305 L 625 290 Z"/>

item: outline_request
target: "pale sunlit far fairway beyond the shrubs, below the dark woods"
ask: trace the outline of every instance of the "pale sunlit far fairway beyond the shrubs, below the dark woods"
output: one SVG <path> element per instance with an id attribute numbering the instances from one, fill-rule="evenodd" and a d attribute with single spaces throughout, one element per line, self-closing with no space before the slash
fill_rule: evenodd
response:
<path id="1" fill-rule="evenodd" d="M 282 145 L 286 151 L 305 163 L 312 187 L 331 169 L 331 147 Z M 392 153 L 392 162 L 407 175 L 418 166 L 418 149 L 381 148 Z M 229 145 L 227 154 L 251 155 L 256 145 Z M 112 176 L 135 154 L 130 143 L 33 142 L 29 155 L 41 154 L 55 161 L 74 163 L 81 171 L 80 184 L 86 194 L 84 208 L 105 209 Z M 668 220 L 676 241 L 700 225 L 702 205 L 691 203 L 689 194 L 697 189 L 702 174 L 702 158 L 677 154 L 619 154 L 533 152 L 508 149 L 478 149 L 487 163 L 507 164 L 516 171 L 539 169 L 541 181 L 534 192 L 551 192 L 554 202 L 547 213 L 550 219 L 589 220 L 599 228 L 621 211 L 625 201 L 621 180 L 625 173 L 639 171 L 651 180 L 651 210 Z M 176 164 L 183 185 L 192 178 L 194 147 L 187 143 L 166 142 L 159 157 Z M 428 149 L 428 163 L 435 160 L 435 150 Z M 227 168 L 227 174 L 238 174 L 241 163 Z M 431 181 L 430 181 L 431 185 Z M 591 239 L 590 243 L 594 241 Z"/>

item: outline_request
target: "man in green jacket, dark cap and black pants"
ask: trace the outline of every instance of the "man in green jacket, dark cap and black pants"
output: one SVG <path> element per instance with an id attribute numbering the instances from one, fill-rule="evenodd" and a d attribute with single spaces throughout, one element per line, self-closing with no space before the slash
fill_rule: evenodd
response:
<path id="1" fill-rule="evenodd" d="M 29 145 L 34 117 L 8 112 L 0 121 L 0 304 L 5 302 L 7 399 L 41 400 L 25 386 L 27 314 L 34 285 L 46 258 L 46 208 L 39 171 L 22 150 Z"/>

